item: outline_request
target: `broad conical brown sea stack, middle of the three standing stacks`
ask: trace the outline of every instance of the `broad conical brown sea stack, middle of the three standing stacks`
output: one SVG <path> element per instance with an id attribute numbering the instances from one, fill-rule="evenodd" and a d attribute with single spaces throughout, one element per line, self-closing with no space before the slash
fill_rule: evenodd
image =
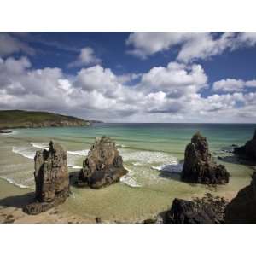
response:
<path id="1" fill-rule="evenodd" d="M 118 182 L 126 173 L 115 143 L 109 137 L 97 137 L 79 172 L 78 185 L 99 189 Z"/>

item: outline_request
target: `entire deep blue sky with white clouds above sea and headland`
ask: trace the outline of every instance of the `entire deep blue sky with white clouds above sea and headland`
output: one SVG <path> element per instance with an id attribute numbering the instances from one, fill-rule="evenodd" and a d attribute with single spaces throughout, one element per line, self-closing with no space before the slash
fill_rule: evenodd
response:
<path id="1" fill-rule="evenodd" d="M 255 123 L 256 32 L 0 32 L 0 109 Z"/>

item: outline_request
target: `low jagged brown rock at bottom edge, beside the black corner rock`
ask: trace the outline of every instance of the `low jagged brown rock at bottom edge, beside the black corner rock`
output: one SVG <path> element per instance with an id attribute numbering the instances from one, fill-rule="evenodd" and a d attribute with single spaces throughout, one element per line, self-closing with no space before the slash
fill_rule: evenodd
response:
<path id="1" fill-rule="evenodd" d="M 218 224 L 224 223 L 224 198 L 213 197 L 207 193 L 193 201 L 174 199 L 172 207 L 166 212 L 166 223 L 171 224 Z"/>

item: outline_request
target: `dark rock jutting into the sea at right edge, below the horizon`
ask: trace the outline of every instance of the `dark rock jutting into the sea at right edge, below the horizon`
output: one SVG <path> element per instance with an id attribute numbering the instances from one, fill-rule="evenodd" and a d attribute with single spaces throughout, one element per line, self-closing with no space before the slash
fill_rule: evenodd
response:
<path id="1" fill-rule="evenodd" d="M 256 161 L 256 130 L 254 131 L 253 138 L 247 143 L 238 148 L 234 148 L 234 153 L 247 160 Z"/>

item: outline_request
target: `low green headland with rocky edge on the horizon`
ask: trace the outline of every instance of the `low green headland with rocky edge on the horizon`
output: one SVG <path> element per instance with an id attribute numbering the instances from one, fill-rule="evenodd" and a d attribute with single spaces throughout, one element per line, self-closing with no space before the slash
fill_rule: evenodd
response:
<path id="1" fill-rule="evenodd" d="M 87 126 L 89 121 L 57 113 L 24 110 L 0 110 L 0 129 Z"/>

